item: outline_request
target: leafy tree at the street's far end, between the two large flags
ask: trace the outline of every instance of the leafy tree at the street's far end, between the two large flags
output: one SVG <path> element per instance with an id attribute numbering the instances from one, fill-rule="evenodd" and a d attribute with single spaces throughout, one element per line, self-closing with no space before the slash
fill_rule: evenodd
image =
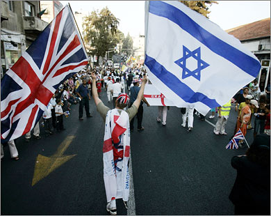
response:
<path id="1" fill-rule="evenodd" d="M 89 54 L 104 57 L 108 49 L 114 48 L 123 40 L 124 34 L 117 29 L 118 24 L 119 19 L 107 7 L 101 12 L 93 10 L 85 17 L 83 32 Z"/>

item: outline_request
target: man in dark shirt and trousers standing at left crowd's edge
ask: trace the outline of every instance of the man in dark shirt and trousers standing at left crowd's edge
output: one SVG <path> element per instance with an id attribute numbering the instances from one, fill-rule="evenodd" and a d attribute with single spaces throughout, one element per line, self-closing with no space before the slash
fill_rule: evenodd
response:
<path id="1" fill-rule="evenodd" d="M 88 85 L 87 81 L 83 79 L 83 84 L 81 84 L 76 91 L 77 95 L 79 95 L 80 103 L 79 103 L 79 120 L 83 120 L 83 107 L 85 106 L 85 114 L 87 117 L 92 117 L 90 115 L 90 95 L 88 93 Z"/>

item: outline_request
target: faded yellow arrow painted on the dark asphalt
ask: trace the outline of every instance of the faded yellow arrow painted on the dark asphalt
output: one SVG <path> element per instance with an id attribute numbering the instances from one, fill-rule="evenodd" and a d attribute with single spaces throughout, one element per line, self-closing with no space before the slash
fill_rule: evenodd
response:
<path id="1" fill-rule="evenodd" d="M 42 180 L 42 178 L 45 178 L 60 167 L 62 164 L 67 162 L 68 160 L 72 159 L 72 157 L 76 155 L 64 155 L 63 153 L 66 151 L 66 149 L 69 147 L 69 145 L 72 143 L 72 140 L 75 136 L 68 136 L 61 144 L 58 146 L 58 149 L 54 155 L 51 157 L 46 157 L 43 155 L 38 155 L 36 163 L 35 163 L 35 170 L 32 180 L 32 186 L 38 183 L 38 181 Z"/>

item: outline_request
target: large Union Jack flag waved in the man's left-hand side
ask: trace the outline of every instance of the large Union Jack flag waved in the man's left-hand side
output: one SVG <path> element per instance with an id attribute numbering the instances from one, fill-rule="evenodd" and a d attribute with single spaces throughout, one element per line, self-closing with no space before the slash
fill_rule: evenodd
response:
<path id="1" fill-rule="evenodd" d="M 61 82 L 87 64 L 72 10 L 65 6 L 1 80 L 1 142 L 34 128 Z"/>

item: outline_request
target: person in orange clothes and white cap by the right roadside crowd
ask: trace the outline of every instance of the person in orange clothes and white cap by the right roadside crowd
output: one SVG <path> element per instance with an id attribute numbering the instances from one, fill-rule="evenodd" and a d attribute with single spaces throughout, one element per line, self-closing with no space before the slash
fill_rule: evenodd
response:
<path id="1" fill-rule="evenodd" d="M 256 100 L 249 100 L 247 97 L 245 100 L 245 107 L 241 109 L 240 115 L 237 118 L 236 122 L 236 132 L 240 129 L 245 137 L 245 134 L 247 134 L 247 124 L 249 123 L 249 119 L 251 117 L 252 111 L 251 109 L 258 108 L 258 102 Z M 235 134 L 236 134 L 235 132 Z M 239 141 L 239 147 L 244 148 L 245 144 L 243 144 L 243 139 Z"/>

